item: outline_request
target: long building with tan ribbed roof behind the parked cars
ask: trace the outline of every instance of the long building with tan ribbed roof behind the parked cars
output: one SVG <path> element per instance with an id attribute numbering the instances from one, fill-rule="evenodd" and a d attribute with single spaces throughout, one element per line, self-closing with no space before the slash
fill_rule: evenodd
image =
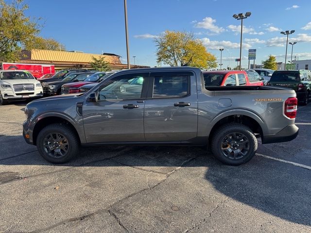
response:
<path id="1" fill-rule="evenodd" d="M 54 50 L 22 50 L 21 63 L 51 64 L 55 69 L 65 68 L 91 68 L 89 63 L 92 58 L 104 57 L 111 69 L 127 69 L 127 64 L 121 64 L 120 56 L 112 53 L 92 54 L 84 52 L 67 52 Z M 143 68 L 146 66 L 130 65 L 131 68 Z"/>

